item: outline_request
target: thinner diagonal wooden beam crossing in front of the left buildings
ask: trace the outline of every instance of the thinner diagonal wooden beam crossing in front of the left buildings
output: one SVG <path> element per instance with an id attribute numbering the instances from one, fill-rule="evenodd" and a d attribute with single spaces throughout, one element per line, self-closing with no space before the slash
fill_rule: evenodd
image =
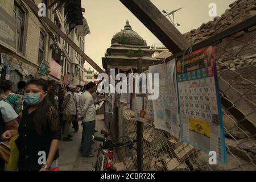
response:
<path id="1" fill-rule="evenodd" d="M 31 0 L 23 1 L 31 8 L 32 11 L 34 11 L 36 15 L 38 15 L 39 9 L 34 2 L 32 2 Z M 43 16 L 40 18 L 42 18 L 44 22 L 48 24 L 49 27 L 51 27 L 55 32 L 57 32 L 57 34 L 59 34 L 61 38 L 63 38 L 69 44 L 69 46 L 71 46 L 76 52 L 78 52 L 79 55 L 81 55 L 82 58 L 84 58 L 94 69 L 96 69 L 97 72 L 105 73 L 92 59 L 90 59 L 89 56 L 87 56 L 84 53 L 84 51 L 82 51 L 82 49 L 80 49 L 80 47 L 78 47 L 71 39 L 69 39 L 69 37 L 65 35 L 64 32 L 61 31 L 60 28 L 57 27 L 48 17 Z"/>

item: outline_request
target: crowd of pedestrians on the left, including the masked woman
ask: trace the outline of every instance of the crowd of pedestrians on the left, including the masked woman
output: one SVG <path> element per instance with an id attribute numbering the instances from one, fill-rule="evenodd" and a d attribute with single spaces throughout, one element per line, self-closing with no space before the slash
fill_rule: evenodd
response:
<path id="1" fill-rule="evenodd" d="M 17 86 L 18 90 L 14 90 L 9 80 L 0 85 L 0 171 L 58 168 L 59 142 L 72 142 L 71 124 L 76 133 L 79 122 L 82 122 L 79 150 L 84 157 L 93 156 L 90 150 L 96 126 L 96 105 L 106 101 L 93 98 L 96 84 L 70 84 L 59 90 L 54 81 L 34 79 L 20 81 Z M 2 155 L 1 145 L 11 146 L 8 156 L 12 158 L 11 164 Z M 45 159 L 40 160 L 43 156 Z"/>

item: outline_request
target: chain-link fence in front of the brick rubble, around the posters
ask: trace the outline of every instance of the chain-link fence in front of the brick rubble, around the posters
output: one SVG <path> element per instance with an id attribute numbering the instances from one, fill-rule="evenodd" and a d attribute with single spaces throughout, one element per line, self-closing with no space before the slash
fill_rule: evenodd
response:
<path id="1" fill-rule="evenodd" d="M 144 170 L 256 170 L 256 29 L 245 28 L 213 42 L 216 47 L 228 163 L 209 164 L 209 155 L 166 131 L 143 123 Z M 118 137 L 137 137 L 134 111 L 118 105 Z M 127 169 L 137 152 L 119 150 Z"/>

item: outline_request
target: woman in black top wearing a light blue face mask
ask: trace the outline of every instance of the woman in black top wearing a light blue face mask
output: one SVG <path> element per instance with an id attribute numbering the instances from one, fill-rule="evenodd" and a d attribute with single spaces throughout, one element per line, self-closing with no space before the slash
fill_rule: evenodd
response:
<path id="1" fill-rule="evenodd" d="M 28 81 L 24 101 L 27 107 L 23 110 L 18 131 L 6 131 L 2 138 L 9 140 L 14 135 L 19 135 L 15 142 L 19 149 L 20 171 L 55 168 L 59 158 L 61 134 L 59 114 L 49 101 L 47 81 Z"/>

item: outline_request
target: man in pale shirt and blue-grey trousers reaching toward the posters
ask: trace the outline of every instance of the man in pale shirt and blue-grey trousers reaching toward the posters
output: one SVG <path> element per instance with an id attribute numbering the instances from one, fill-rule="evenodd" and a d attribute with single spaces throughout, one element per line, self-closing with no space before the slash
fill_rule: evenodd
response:
<path id="1" fill-rule="evenodd" d="M 82 145 L 80 151 L 82 156 L 92 158 L 92 135 L 94 134 L 94 128 L 96 125 L 96 107 L 94 105 L 92 93 L 96 91 L 96 84 L 89 82 L 85 86 L 86 91 L 82 93 L 79 99 L 81 108 L 80 119 L 82 119 Z M 106 101 L 105 98 L 98 100 L 98 102 Z"/>

